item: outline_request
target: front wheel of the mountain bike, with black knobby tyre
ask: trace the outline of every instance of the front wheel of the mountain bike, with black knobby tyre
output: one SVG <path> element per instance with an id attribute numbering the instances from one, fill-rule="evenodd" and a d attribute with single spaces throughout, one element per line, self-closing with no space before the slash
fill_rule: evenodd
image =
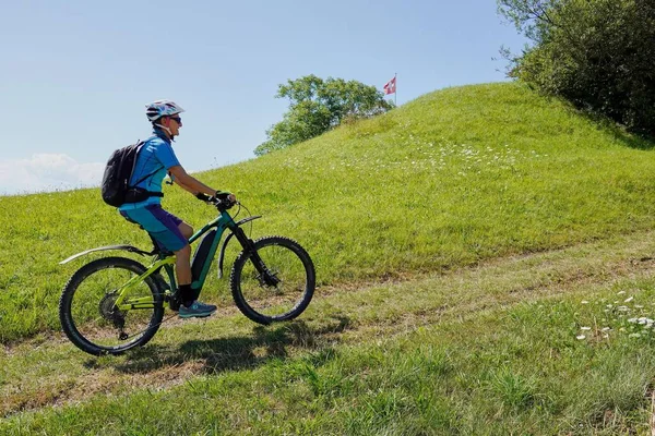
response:
<path id="1" fill-rule="evenodd" d="M 309 305 L 315 288 L 315 271 L 309 254 L 296 241 L 266 237 L 254 241 L 265 266 L 260 274 L 253 254 L 243 251 L 230 274 L 230 288 L 237 307 L 259 324 L 293 319 Z"/>

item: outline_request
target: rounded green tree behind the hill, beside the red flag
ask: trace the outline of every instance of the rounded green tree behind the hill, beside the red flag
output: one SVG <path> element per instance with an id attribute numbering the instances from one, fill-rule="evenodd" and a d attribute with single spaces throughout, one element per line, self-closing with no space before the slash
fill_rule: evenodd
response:
<path id="1" fill-rule="evenodd" d="M 343 78 L 322 80 L 313 74 L 279 85 L 275 97 L 288 98 L 289 110 L 266 131 L 266 142 L 254 149 L 257 156 L 310 140 L 345 121 L 393 108 L 374 86 Z"/>

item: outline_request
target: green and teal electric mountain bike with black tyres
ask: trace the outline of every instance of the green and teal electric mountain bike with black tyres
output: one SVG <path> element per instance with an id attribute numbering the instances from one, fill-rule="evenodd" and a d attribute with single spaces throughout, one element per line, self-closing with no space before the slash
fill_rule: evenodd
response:
<path id="1" fill-rule="evenodd" d="M 227 211 L 234 206 L 229 199 L 214 198 L 211 204 L 218 216 L 189 238 L 189 243 L 200 241 L 191 259 L 191 288 L 195 294 L 204 286 L 227 230 L 229 234 L 219 252 L 218 278 L 223 277 L 227 244 L 236 238 L 242 251 L 233 264 L 229 288 L 241 313 L 263 325 L 300 315 L 315 288 L 314 266 L 307 251 L 284 237 L 253 241 L 242 226 L 250 222 L 252 230 L 251 221 L 261 216 L 251 215 L 235 221 Z M 235 217 L 241 210 L 241 205 L 237 205 Z M 175 293 L 175 255 L 158 249 L 154 240 L 151 252 L 132 245 L 102 246 L 60 262 L 67 264 L 90 253 L 110 250 L 152 256 L 147 266 L 128 257 L 102 257 L 73 274 L 59 300 L 59 319 L 64 334 L 78 348 L 100 355 L 120 354 L 144 346 L 159 329 L 165 307 L 179 307 Z"/>

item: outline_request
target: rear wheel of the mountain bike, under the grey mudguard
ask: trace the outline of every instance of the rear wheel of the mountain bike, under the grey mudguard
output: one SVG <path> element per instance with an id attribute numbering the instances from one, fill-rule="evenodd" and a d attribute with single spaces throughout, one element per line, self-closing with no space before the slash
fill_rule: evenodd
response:
<path id="1" fill-rule="evenodd" d="M 131 287 L 124 301 L 152 301 L 150 307 L 115 307 L 120 287 L 143 272 L 143 265 L 126 257 L 105 257 L 80 268 L 59 300 L 59 319 L 71 342 L 100 355 L 120 354 L 151 340 L 164 317 L 163 295 L 152 276 Z"/>

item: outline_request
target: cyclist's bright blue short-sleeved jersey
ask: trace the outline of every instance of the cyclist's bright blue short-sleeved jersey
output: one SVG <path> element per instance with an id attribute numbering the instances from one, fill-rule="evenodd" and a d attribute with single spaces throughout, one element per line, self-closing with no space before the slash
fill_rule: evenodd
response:
<path id="1" fill-rule="evenodd" d="M 168 169 L 176 165 L 180 165 L 180 162 L 175 156 L 170 140 L 162 130 L 155 129 L 153 136 L 141 146 L 141 150 L 136 157 L 136 164 L 134 165 L 134 172 L 132 172 L 132 178 L 130 179 L 130 185 L 134 186 L 133 183 L 145 178 L 135 186 L 152 192 L 162 192 L 162 181 L 166 177 Z M 153 174 L 148 175 L 151 173 Z M 126 203 L 118 209 L 132 210 L 160 203 L 162 197 L 148 197 L 139 203 Z"/>

